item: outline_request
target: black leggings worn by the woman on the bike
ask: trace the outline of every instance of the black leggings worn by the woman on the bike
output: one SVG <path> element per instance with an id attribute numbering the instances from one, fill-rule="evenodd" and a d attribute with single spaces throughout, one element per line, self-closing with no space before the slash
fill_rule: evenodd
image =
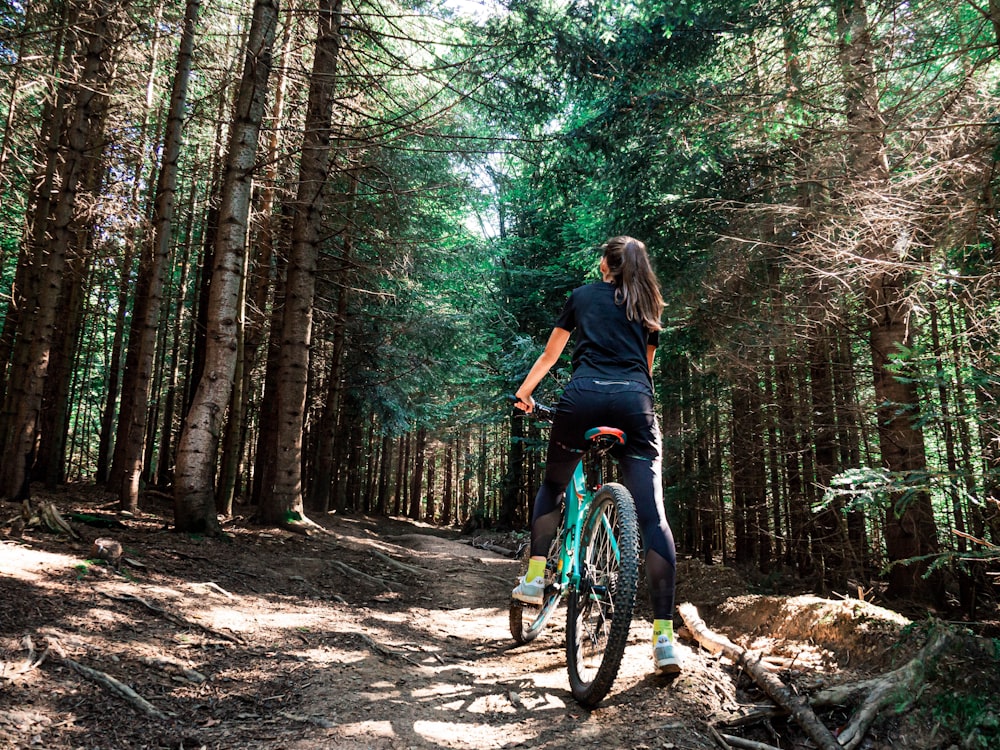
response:
<path id="1" fill-rule="evenodd" d="M 663 511 L 660 430 L 649 386 L 628 380 L 579 378 L 570 381 L 556 407 L 545 459 L 545 479 L 531 518 L 531 554 L 544 557 L 559 526 L 566 487 L 587 449 L 591 427 L 617 427 L 625 445 L 616 446 L 625 486 L 635 499 L 646 551 L 646 575 L 655 619 L 674 612 L 677 552 Z"/>

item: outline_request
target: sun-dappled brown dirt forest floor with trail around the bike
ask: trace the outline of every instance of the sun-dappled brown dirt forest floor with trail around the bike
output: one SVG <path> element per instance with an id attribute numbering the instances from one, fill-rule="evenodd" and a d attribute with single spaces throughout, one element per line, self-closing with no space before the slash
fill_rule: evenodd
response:
<path id="1" fill-rule="evenodd" d="M 115 517 L 93 488 L 38 499 L 66 518 Z M 0 523 L 17 510 L 0 504 Z M 781 716 L 723 728 L 767 699 L 692 640 L 679 676 L 654 674 L 644 591 L 611 693 L 583 710 L 558 617 L 534 643 L 510 637 L 519 563 L 483 549 L 510 536 L 331 515 L 324 534 L 236 518 L 208 539 L 172 532 L 166 504 L 118 518 L 71 520 L 76 541 L 0 528 L 0 748 L 737 747 L 716 732 L 814 746 Z M 98 537 L 122 545 L 117 565 L 95 558 Z M 784 657 L 776 675 L 801 695 L 884 675 L 931 629 L 857 599 L 755 590 L 722 565 L 679 564 L 678 601 Z M 1000 643 L 956 632 L 861 748 L 1000 747 Z M 835 730 L 853 710 L 817 713 Z"/>

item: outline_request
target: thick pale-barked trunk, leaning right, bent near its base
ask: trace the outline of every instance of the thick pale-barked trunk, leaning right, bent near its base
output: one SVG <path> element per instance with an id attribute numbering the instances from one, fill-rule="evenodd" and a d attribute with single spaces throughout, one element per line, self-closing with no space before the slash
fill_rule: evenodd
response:
<path id="1" fill-rule="evenodd" d="M 205 365 L 177 449 L 174 521 L 178 531 L 219 531 L 214 496 L 216 459 L 236 369 L 247 219 L 277 17 L 276 0 L 256 0 L 222 180 Z"/>

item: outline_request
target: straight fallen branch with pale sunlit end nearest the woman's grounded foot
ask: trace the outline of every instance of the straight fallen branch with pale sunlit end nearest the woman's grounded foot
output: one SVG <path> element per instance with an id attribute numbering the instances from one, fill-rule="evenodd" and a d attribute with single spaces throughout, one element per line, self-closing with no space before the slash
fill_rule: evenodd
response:
<path id="1" fill-rule="evenodd" d="M 821 750 L 841 750 L 837 739 L 819 720 L 805 698 L 793 693 L 787 685 L 768 672 L 763 667 L 762 657 L 758 652 L 737 646 L 725 636 L 713 633 L 698 615 L 698 610 L 693 604 L 681 604 L 677 611 L 703 648 L 713 654 L 724 653 L 745 669 L 771 700 L 792 715 L 796 723 Z"/>

